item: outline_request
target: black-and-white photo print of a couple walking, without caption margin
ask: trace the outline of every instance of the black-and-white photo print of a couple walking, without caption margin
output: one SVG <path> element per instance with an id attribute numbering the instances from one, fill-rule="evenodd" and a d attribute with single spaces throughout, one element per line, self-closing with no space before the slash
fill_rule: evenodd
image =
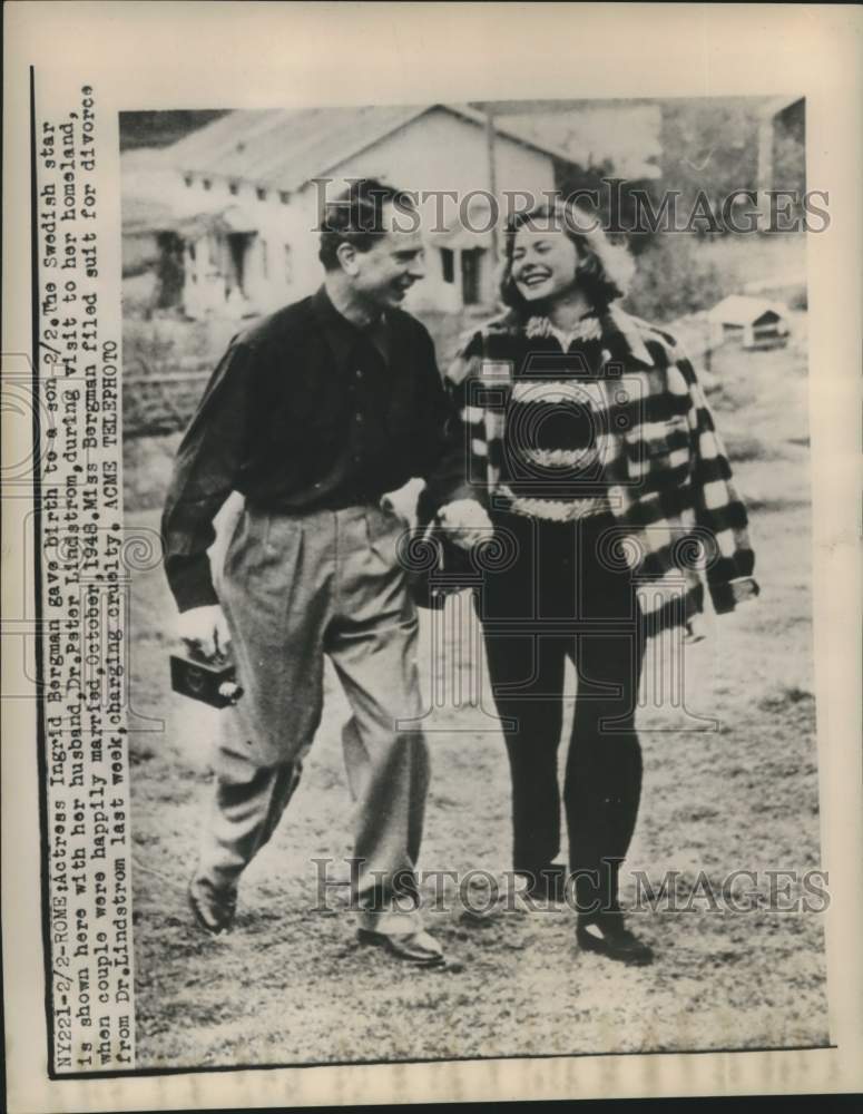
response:
<path id="1" fill-rule="evenodd" d="M 828 1043 L 805 119 L 121 116 L 141 1065 Z"/>

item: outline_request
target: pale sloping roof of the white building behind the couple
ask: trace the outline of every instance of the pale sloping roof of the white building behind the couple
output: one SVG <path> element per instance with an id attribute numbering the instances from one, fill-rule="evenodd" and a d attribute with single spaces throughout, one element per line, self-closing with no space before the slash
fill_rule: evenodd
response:
<path id="1" fill-rule="evenodd" d="M 165 148 L 164 157 L 182 170 L 245 178 L 292 190 L 433 108 L 480 126 L 486 121 L 482 113 L 451 105 L 241 109 Z M 571 158 L 511 126 L 498 131 L 546 154 Z"/>

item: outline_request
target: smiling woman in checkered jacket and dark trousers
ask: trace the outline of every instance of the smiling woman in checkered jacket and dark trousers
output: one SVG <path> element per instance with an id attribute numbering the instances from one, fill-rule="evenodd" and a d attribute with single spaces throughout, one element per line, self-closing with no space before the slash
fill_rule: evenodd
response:
<path id="1" fill-rule="evenodd" d="M 651 949 L 618 903 L 641 790 L 646 638 L 670 626 L 696 636 L 704 579 L 717 612 L 757 586 L 746 512 L 694 370 L 671 336 L 616 305 L 629 260 L 590 224 L 555 204 L 508 228 L 508 311 L 448 372 L 461 426 L 429 509 L 465 549 L 496 539 L 477 606 L 512 775 L 514 870 L 530 893 L 560 897 L 569 659 L 563 805 L 577 938 L 646 964 Z"/>

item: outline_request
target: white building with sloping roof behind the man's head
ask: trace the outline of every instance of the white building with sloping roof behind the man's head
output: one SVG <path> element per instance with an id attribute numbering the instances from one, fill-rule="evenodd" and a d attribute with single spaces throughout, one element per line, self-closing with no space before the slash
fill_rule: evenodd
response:
<path id="1" fill-rule="evenodd" d="M 492 168 L 487 124 L 453 105 L 241 110 L 170 146 L 127 150 L 124 274 L 155 277 L 153 309 L 192 319 L 269 312 L 318 280 L 323 197 L 375 177 L 433 195 L 421 206 L 426 278 L 412 307 L 488 305 L 490 186 L 502 206 L 507 192 L 551 190 L 556 162 L 573 155 L 507 120 L 494 130 Z"/>

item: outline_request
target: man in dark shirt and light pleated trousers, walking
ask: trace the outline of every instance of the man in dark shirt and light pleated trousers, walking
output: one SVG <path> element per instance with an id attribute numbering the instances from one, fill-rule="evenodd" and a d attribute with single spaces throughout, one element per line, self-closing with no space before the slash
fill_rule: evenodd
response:
<path id="1" fill-rule="evenodd" d="M 236 336 L 180 444 L 163 519 L 180 635 L 232 645 L 245 695 L 225 711 L 215 800 L 189 885 L 198 924 L 231 927 L 241 872 L 272 836 L 320 723 L 324 655 L 351 705 L 360 938 L 442 960 L 416 911 L 429 764 L 418 620 L 381 497 L 438 461 L 448 402 L 425 329 L 401 310 L 423 277 L 406 195 L 355 182 L 322 219 L 324 283 Z M 224 566 L 213 519 L 245 496 Z"/>

